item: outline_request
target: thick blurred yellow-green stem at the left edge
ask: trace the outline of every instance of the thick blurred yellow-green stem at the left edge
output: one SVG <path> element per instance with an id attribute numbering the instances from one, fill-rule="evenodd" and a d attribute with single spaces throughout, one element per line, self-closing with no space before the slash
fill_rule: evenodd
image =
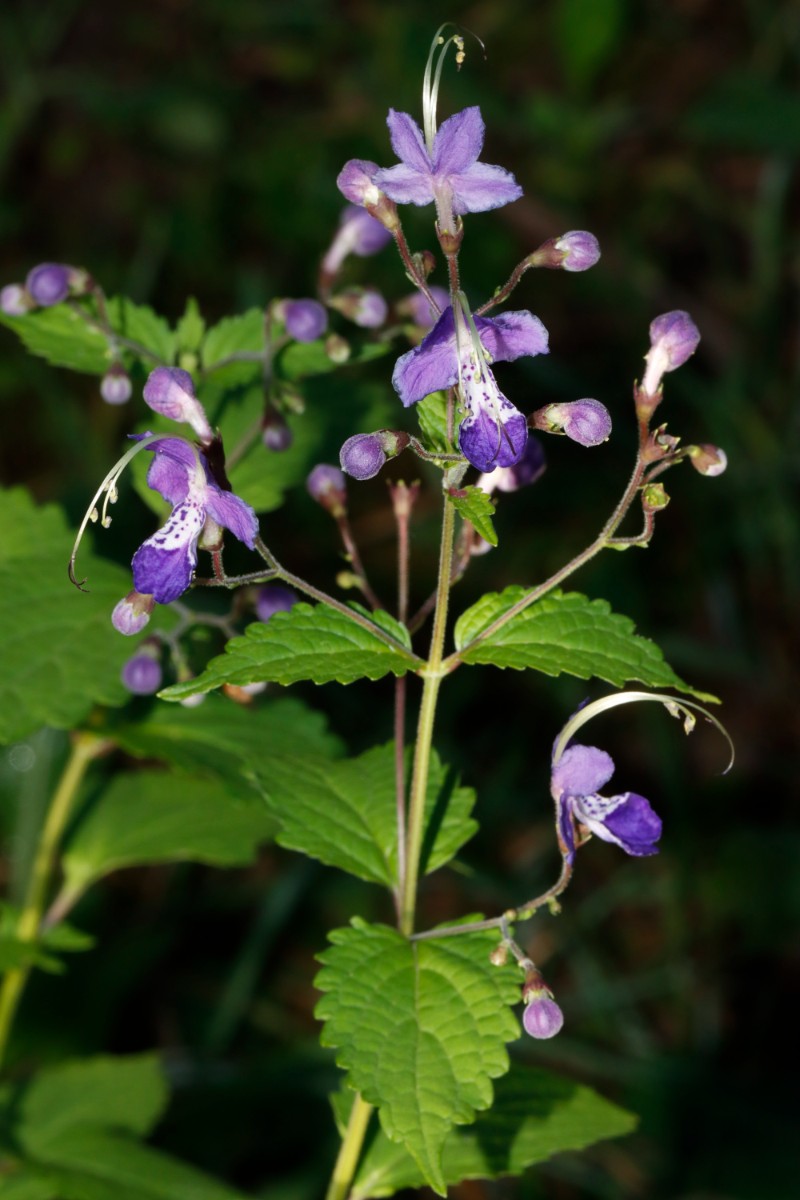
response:
<path id="1" fill-rule="evenodd" d="M 108 743 L 94 733 L 78 733 L 72 745 L 72 752 L 64 768 L 53 803 L 44 818 L 38 840 L 36 857 L 28 882 L 28 893 L 19 914 L 16 936 L 20 942 L 35 942 L 47 900 L 47 889 L 53 874 L 53 865 L 64 827 L 66 826 L 76 793 L 83 781 L 89 763 L 102 754 Z M 0 989 L 0 1064 L 5 1057 L 8 1036 L 13 1025 L 17 1006 L 28 983 L 30 966 L 14 967 L 8 971 Z"/>

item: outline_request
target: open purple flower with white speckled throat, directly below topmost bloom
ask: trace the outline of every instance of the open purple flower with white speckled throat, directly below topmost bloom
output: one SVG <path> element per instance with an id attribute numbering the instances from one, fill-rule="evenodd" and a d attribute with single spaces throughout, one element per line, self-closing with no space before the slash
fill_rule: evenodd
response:
<path id="1" fill-rule="evenodd" d="M 422 342 L 397 360 L 392 383 L 407 407 L 458 384 L 465 409 L 458 445 L 474 467 L 488 472 L 518 462 L 528 444 L 525 418 L 498 388 L 489 361 L 547 354 L 547 330 L 525 310 L 473 319 L 477 338 L 461 307 L 457 320 L 446 308 Z"/>

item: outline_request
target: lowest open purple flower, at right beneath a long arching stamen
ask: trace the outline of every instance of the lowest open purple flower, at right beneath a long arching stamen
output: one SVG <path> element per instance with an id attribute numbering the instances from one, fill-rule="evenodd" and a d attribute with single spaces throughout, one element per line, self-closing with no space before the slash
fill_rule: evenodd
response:
<path id="1" fill-rule="evenodd" d="M 571 745 L 553 767 L 551 792 L 555 800 L 561 853 L 572 862 L 576 824 L 602 841 L 613 841 L 626 854 L 657 854 L 661 820 L 649 800 L 636 792 L 600 796 L 614 774 L 614 760 L 596 746 Z"/>

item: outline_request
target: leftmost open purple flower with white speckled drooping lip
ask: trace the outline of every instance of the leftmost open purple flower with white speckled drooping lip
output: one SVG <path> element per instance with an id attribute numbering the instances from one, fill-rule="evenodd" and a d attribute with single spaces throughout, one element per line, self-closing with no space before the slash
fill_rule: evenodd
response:
<path id="1" fill-rule="evenodd" d="M 133 586 L 158 604 L 178 600 L 192 582 L 197 545 L 206 522 L 212 534 L 222 526 L 253 550 L 258 520 L 249 504 L 224 492 L 211 478 L 205 458 L 182 438 L 161 438 L 149 449 L 155 457 L 148 484 L 173 505 L 164 526 L 133 556 Z"/>

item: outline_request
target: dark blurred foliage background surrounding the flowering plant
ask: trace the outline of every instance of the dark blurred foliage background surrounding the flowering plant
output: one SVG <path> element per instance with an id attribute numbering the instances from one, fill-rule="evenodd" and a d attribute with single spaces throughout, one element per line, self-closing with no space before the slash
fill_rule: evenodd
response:
<path id="1" fill-rule="evenodd" d="M 173 320 L 190 294 L 209 320 L 313 294 L 341 209 L 336 174 L 348 157 L 392 161 L 386 110 L 420 116 L 429 40 L 446 19 L 487 54 L 468 43 L 464 70 L 445 71 L 440 118 L 479 103 L 485 157 L 525 191 L 468 218 L 473 301 L 548 236 L 588 228 L 603 248 L 585 275 L 525 276 L 513 306 L 542 317 L 551 355 L 505 367 L 501 385 L 525 410 L 596 396 L 615 421 L 597 450 L 548 442 L 546 475 L 501 505 L 501 547 L 475 562 L 457 604 L 533 582 L 594 535 L 630 470 L 648 324 L 690 310 L 703 342 L 667 378 L 662 419 L 687 442 L 722 445 L 729 469 L 708 480 L 679 468 L 646 558 L 607 554 L 575 586 L 633 617 L 681 674 L 721 696 L 738 750 L 720 778 L 715 736 L 686 742 L 655 706 L 596 727 L 619 788 L 663 815 L 663 850 L 628 862 L 593 844 L 563 917 L 525 930 L 567 1025 L 521 1052 L 640 1112 L 640 1132 L 459 1193 L 782 1200 L 796 1189 L 798 1117 L 784 1052 L 800 911 L 796 4 L 5 0 L 0 280 L 47 259 L 85 265 L 109 293 Z M 408 214 L 417 248 L 433 242 L 429 215 Z M 408 290 L 389 252 L 351 270 L 392 298 Z M 1 343 L 4 481 L 77 516 L 133 416 L 106 407 L 96 379 L 26 358 L 5 331 Z M 349 433 L 408 420 L 389 361 L 309 388 L 307 420 L 329 461 Z M 387 590 L 385 479 L 351 492 L 362 553 Z M 437 506 L 429 493 L 417 510 L 419 600 Z M 331 586 L 338 551 L 319 517 L 299 488 L 267 540 Z M 124 560 L 132 526 L 149 520 L 143 508 L 101 546 Z M 479 788 L 485 833 L 462 874 L 428 884 L 429 922 L 499 911 L 551 881 L 549 744 L 587 694 L 487 668 L 457 678 L 438 744 Z M 354 750 L 390 736 L 389 685 L 377 685 L 383 715 L 365 688 L 307 689 Z M 13 750 L 0 766 L 18 785 L 17 824 L 4 823 L 20 853 L 64 752 L 61 734 L 35 740 L 35 770 L 20 774 Z M 20 1028 L 31 1060 L 158 1046 L 176 1087 L 163 1145 L 255 1194 L 312 1198 L 335 1151 L 313 954 L 354 911 L 389 917 L 367 888 L 275 848 L 249 872 L 121 874 L 78 913 L 100 948 L 30 989 Z"/>

